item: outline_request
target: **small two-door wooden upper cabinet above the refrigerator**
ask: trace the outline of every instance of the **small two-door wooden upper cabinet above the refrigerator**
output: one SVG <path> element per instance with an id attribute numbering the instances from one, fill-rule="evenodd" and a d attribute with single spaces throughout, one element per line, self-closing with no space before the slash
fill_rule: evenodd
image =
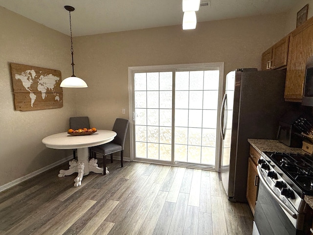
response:
<path id="1" fill-rule="evenodd" d="M 262 70 L 285 69 L 287 66 L 289 35 L 262 54 Z"/>

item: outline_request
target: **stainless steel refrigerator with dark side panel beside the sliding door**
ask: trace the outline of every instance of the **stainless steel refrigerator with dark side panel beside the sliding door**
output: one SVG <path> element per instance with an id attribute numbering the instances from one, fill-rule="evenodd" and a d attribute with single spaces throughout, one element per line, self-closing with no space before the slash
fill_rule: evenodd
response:
<path id="1" fill-rule="evenodd" d="M 279 119 L 291 109 L 284 101 L 286 71 L 236 69 L 226 75 L 221 107 L 221 178 L 231 201 L 246 202 L 247 139 L 276 139 Z"/>

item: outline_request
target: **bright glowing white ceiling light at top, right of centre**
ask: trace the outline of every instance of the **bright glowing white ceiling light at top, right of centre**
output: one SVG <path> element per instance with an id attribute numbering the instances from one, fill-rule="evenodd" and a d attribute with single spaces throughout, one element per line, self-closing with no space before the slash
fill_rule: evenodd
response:
<path id="1" fill-rule="evenodd" d="M 199 11 L 200 0 L 182 0 L 182 29 L 195 29 L 197 25 L 196 11 Z"/>

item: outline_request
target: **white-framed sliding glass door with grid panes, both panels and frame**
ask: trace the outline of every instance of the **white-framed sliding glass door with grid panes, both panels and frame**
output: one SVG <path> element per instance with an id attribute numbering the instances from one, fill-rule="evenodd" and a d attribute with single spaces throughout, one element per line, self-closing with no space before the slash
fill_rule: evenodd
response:
<path id="1" fill-rule="evenodd" d="M 216 168 L 223 63 L 129 68 L 131 159 Z"/>

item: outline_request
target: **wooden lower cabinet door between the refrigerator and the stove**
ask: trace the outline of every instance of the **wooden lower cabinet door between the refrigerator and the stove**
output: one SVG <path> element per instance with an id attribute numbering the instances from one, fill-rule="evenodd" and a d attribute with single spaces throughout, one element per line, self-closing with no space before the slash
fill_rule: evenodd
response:
<path id="1" fill-rule="evenodd" d="M 255 210 L 255 202 L 256 202 L 256 196 L 257 196 L 257 189 L 256 186 L 258 177 L 258 171 L 256 169 L 256 165 L 252 161 L 251 158 L 248 160 L 248 177 L 247 177 L 247 184 L 246 184 L 246 199 L 248 201 L 248 204 L 251 208 L 251 211 L 254 215 Z"/>

